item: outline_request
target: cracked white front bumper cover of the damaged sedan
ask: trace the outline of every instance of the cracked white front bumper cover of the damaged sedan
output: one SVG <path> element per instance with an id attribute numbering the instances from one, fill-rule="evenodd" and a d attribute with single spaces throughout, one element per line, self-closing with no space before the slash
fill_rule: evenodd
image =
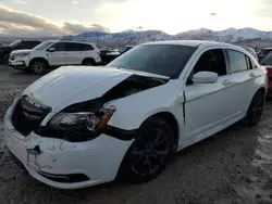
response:
<path id="1" fill-rule="evenodd" d="M 78 189 L 112 181 L 133 143 L 133 140 L 122 141 L 107 135 L 77 143 L 34 132 L 24 137 L 11 122 L 14 106 L 4 118 L 7 145 L 34 178 L 54 188 Z M 37 149 L 37 154 L 29 151 Z"/>

